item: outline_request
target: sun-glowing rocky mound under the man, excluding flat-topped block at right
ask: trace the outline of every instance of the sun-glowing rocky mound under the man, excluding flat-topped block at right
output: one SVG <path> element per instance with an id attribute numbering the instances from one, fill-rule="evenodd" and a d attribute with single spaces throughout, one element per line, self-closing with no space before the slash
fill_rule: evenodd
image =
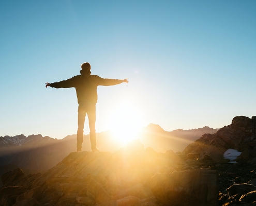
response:
<path id="1" fill-rule="evenodd" d="M 139 140 L 114 153 L 72 152 L 43 175 L 24 176 L 20 169 L 6 173 L 0 202 L 154 206 L 159 202 L 150 188 L 151 178 L 185 165 L 173 151 L 158 153 L 152 148 L 144 149 Z M 10 193 L 7 188 L 15 189 Z"/>

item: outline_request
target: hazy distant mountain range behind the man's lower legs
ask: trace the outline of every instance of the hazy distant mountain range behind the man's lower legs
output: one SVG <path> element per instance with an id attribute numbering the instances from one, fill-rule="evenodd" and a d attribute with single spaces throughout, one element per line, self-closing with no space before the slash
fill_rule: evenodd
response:
<path id="1" fill-rule="evenodd" d="M 175 135 L 171 135 L 172 132 L 164 131 L 159 125 L 149 124 L 142 129 L 139 138 L 145 147 L 152 147 L 158 152 L 165 152 L 170 149 L 176 152 L 182 151 L 189 143 L 200 138 L 203 132 L 213 133 L 217 131 L 211 128 L 205 130 L 204 128 L 179 130 L 178 132 L 174 130 Z M 178 138 L 179 133 L 181 138 Z M 122 139 L 122 136 L 119 138 Z M 114 152 L 122 148 L 121 142 L 112 138 L 111 131 L 97 133 L 97 145 L 101 151 Z M 1 136 L 0 175 L 6 172 L 4 166 L 9 164 L 21 167 L 25 174 L 44 172 L 62 161 L 70 152 L 76 151 L 76 146 L 76 135 L 68 135 L 62 140 L 53 139 L 49 136 L 43 137 L 41 134 L 29 135 L 27 138 L 23 134 L 13 137 Z M 91 151 L 89 135 L 84 135 L 83 150 Z"/>

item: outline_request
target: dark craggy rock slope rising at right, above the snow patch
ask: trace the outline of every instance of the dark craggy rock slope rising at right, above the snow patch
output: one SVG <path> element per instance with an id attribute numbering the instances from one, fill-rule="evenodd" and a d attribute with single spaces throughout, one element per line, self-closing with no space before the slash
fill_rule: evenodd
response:
<path id="1" fill-rule="evenodd" d="M 200 153 L 200 159 L 207 154 L 214 160 L 223 158 L 227 149 L 242 152 L 236 161 L 256 164 L 256 117 L 236 116 L 232 124 L 224 126 L 215 134 L 204 134 L 188 145 L 183 153 Z"/>

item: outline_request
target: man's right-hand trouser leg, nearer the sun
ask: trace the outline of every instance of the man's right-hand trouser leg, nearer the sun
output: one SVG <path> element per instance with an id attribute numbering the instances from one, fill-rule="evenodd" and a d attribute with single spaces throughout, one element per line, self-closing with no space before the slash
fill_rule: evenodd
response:
<path id="1" fill-rule="evenodd" d="M 89 128 L 90 128 L 90 140 L 91 140 L 91 148 L 94 150 L 96 148 L 96 131 L 95 131 L 95 123 L 96 123 L 96 105 L 88 105 L 87 110 L 88 120 L 89 120 Z"/>

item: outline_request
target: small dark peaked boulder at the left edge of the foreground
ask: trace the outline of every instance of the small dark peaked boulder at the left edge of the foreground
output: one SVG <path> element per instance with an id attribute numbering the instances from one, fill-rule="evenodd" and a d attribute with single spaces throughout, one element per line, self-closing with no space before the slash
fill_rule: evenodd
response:
<path id="1" fill-rule="evenodd" d="M 2 175 L 1 180 L 4 186 L 16 186 L 25 177 L 21 168 L 14 169 Z M 20 186 L 20 185 L 17 185 Z"/>

